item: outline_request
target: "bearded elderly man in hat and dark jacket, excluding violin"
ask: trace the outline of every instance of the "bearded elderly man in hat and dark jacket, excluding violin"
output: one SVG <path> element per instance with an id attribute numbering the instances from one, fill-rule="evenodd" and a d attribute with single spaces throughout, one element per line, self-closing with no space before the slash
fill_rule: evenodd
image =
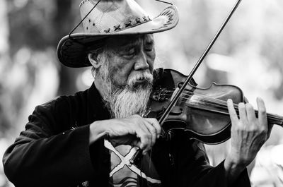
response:
<path id="1" fill-rule="evenodd" d="M 265 105 L 259 116 L 229 100 L 229 156 L 209 166 L 202 143 L 175 131 L 161 136 L 154 118 L 144 118 L 154 83 L 152 33 L 175 27 L 169 6 L 154 19 L 134 0 L 83 0 L 85 32 L 64 37 L 58 56 L 70 67 L 93 66 L 88 90 L 57 97 L 35 108 L 25 131 L 8 147 L 4 169 L 16 186 L 250 186 L 246 166 L 268 138 Z M 130 162 L 138 149 L 139 162 Z"/>

